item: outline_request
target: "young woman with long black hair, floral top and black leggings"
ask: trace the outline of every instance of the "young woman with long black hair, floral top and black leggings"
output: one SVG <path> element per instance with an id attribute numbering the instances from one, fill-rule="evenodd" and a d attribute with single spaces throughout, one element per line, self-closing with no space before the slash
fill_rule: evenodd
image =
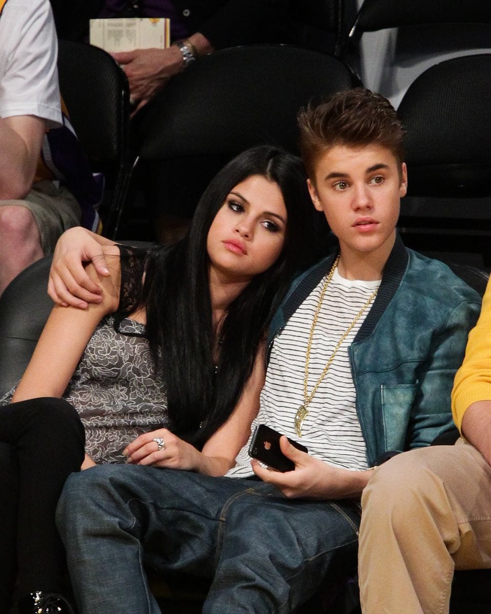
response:
<path id="1" fill-rule="evenodd" d="M 18 500 L 22 612 L 66 607 L 49 594 L 63 572 L 56 501 L 84 453 L 69 403 L 85 427 L 82 468 L 126 459 L 223 475 L 233 465 L 258 408 L 266 328 L 310 260 L 310 211 L 300 161 L 249 150 L 211 182 L 179 244 L 107 246 L 112 273 L 90 272 L 101 302 L 53 308 L 1 410 L 0 441 L 16 446 L 19 465 L 17 494 L 6 480 L 0 488 Z M 4 564 L 7 593 L 12 558 Z"/>

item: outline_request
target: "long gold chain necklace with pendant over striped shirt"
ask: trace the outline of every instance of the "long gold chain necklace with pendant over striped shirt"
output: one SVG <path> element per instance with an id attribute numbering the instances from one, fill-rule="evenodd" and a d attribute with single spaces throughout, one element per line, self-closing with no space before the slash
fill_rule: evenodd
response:
<path id="1" fill-rule="evenodd" d="M 298 408 L 295 414 L 295 432 L 298 435 L 298 437 L 302 436 L 302 424 L 303 424 L 304 419 L 306 419 L 309 413 L 309 410 L 307 410 L 307 405 L 309 405 L 312 398 L 314 398 L 314 394 L 317 392 L 317 389 L 319 388 L 320 383 L 325 378 L 325 375 L 327 371 L 329 370 L 331 363 L 334 360 L 334 356 L 336 356 L 339 348 L 341 347 L 342 342 L 349 335 L 354 325 L 358 322 L 360 317 L 363 315 L 363 312 L 365 311 L 365 309 L 368 307 L 371 301 L 374 300 L 374 298 L 377 296 L 377 292 L 379 291 L 379 289 L 377 288 L 376 290 L 374 290 L 374 292 L 371 293 L 366 303 L 363 305 L 363 307 L 361 307 L 360 311 L 358 311 L 353 321 L 350 323 L 349 327 L 347 327 L 344 333 L 342 333 L 341 338 L 339 339 L 338 343 L 336 343 L 336 346 L 334 347 L 333 352 L 326 363 L 326 366 L 323 368 L 322 373 L 319 376 L 319 379 L 317 379 L 317 381 L 315 382 L 315 385 L 314 385 L 314 388 L 312 389 L 311 394 L 309 394 L 307 392 L 307 383 L 309 380 L 309 363 L 311 361 L 311 347 L 312 347 L 312 339 L 314 338 L 315 325 L 317 324 L 317 319 L 319 318 L 320 309 L 322 308 L 322 303 L 324 300 L 324 296 L 325 296 L 327 287 L 329 286 L 329 284 L 331 283 L 333 279 L 334 271 L 336 270 L 336 266 L 338 266 L 338 262 L 339 262 L 339 256 L 336 258 L 336 260 L 334 260 L 333 266 L 331 266 L 331 270 L 329 271 L 326 281 L 324 282 L 324 285 L 322 286 L 322 290 L 320 291 L 319 303 L 317 303 L 317 308 L 315 309 L 314 319 L 312 320 L 311 332 L 309 334 L 309 340 L 307 341 L 307 350 L 305 352 L 305 375 L 304 375 L 304 380 L 303 380 L 303 405 L 300 405 L 300 407 Z"/>

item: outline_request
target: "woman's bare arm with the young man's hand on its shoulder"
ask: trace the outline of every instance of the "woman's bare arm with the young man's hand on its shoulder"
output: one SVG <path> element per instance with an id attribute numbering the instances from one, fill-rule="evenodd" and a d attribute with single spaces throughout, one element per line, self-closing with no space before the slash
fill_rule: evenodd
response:
<path id="1" fill-rule="evenodd" d="M 92 265 L 87 267 L 92 281 L 101 286 L 101 303 L 90 305 L 85 311 L 53 307 L 12 402 L 63 395 L 99 321 L 118 308 L 120 258 L 116 246 L 112 247 L 112 252 L 115 257 L 108 258 L 109 277 L 99 278 Z"/>

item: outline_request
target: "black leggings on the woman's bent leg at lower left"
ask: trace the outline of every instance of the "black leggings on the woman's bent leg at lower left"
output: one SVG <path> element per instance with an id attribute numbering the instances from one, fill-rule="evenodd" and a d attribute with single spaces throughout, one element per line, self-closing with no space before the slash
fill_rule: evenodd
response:
<path id="1" fill-rule="evenodd" d="M 64 551 L 56 503 L 80 469 L 85 432 L 60 398 L 0 408 L 0 613 L 8 612 L 16 573 L 19 593 L 60 591 Z M 17 554 L 16 554 L 17 551 Z"/>

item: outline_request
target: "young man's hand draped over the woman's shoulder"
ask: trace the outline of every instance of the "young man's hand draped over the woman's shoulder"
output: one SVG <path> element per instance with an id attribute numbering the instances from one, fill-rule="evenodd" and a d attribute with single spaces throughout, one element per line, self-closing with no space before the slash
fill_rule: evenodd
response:
<path id="1" fill-rule="evenodd" d="M 108 277 L 104 247 L 113 245 L 114 241 L 80 227 L 61 235 L 48 282 L 48 294 L 56 305 L 87 309 L 88 303 L 101 302 L 101 287 L 90 279 L 83 263 L 92 262 L 99 275 Z"/>

